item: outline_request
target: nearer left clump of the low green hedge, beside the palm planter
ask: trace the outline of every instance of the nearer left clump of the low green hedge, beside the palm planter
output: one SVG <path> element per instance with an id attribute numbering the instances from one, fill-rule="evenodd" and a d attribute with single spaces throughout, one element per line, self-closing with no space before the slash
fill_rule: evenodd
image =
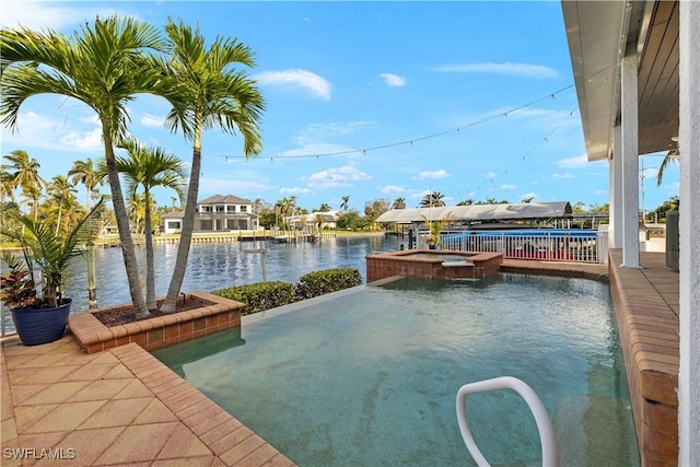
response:
<path id="1" fill-rule="evenodd" d="M 214 295 L 223 296 L 246 304 L 242 315 L 262 312 L 277 306 L 296 302 L 294 285 L 288 282 L 271 281 L 217 290 Z"/>

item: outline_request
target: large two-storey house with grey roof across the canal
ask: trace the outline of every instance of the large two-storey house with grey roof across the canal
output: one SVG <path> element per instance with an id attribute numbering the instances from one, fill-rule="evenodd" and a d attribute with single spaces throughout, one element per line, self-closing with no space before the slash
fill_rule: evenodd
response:
<path id="1" fill-rule="evenodd" d="M 183 230 L 185 211 L 163 215 L 163 233 L 179 233 Z M 249 199 L 234 195 L 214 195 L 197 202 L 195 232 L 230 232 L 258 230 L 258 215 L 253 212 Z"/>

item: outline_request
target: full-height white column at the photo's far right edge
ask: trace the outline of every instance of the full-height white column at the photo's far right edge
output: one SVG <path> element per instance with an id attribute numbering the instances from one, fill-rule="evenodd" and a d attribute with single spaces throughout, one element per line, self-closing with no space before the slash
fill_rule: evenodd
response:
<path id="1" fill-rule="evenodd" d="M 678 465 L 700 465 L 700 3 L 680 8 Z"/>

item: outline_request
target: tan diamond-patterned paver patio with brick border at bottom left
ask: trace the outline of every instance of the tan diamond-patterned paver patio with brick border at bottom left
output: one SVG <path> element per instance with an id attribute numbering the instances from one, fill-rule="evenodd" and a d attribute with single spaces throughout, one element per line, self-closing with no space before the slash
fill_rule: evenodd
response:
<path id="1" fill-rule="evenodd" d="M 199 433 L 237 430 L 241 422 L 136 343 L 86 354 L 71 336 L 35 347 L 11 338 L 1 354 L 2 450 L 24 450 L 23 459 L 3 458 L 3 467 L 236 465 L 218 457 Z M 51 459 L 42 450 L 74 459 Z"/>

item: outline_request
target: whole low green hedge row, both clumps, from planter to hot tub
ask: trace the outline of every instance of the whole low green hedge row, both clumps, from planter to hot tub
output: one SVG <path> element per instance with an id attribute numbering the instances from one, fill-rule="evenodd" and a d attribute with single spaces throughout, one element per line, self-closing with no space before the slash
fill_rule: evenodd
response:
<path id="1" fill-rule="evenodd" d="M 296 285 L 281 281 L 258 282 L 221 289 L 212 293 L 245 303 L 246 306 L 241 314 L 250 315 L 360 284 L 362 276 L 359 270 L 341 268 L 310 272 L 302 276 Z"/>

